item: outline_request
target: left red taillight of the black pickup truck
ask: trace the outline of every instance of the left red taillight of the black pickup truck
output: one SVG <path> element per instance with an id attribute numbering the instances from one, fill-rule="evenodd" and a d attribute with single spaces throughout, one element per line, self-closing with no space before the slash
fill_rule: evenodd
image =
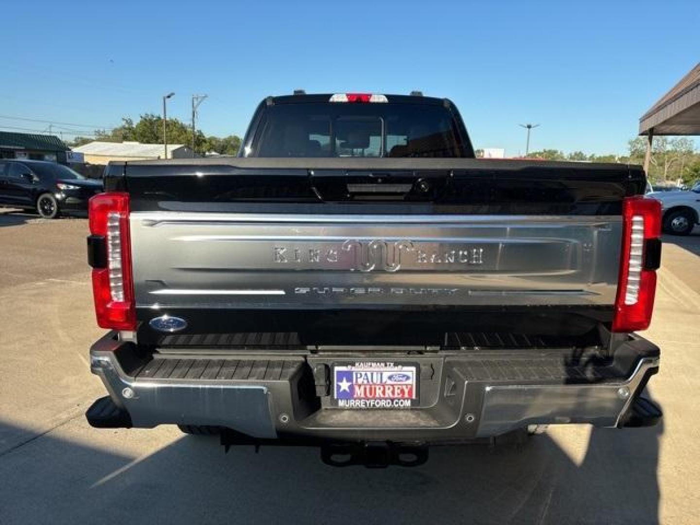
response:
<path id="1" fill-rule="evenodd" d="M 90 233 L 104 238 L 106 267 L 92 269 L 97 324 L 114 330 L 136 328 L 129 238 L 129 194 L 100 193 L 90 199 Z"/>

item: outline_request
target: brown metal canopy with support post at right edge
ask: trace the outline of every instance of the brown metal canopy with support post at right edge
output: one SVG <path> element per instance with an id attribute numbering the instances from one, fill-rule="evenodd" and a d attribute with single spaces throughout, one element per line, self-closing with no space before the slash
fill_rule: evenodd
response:
<path id="1" fill-rule="evenodd" d="M 639 119 L 639 134 L 648 137 L 645 172 L 655 135 L 700 135 L 700 63 L 644 113 Z"/>

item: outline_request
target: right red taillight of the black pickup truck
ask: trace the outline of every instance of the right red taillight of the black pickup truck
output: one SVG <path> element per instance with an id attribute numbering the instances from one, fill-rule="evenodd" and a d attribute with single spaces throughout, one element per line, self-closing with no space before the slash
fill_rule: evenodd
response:
<path id="1" fill-rule="evenodd" d="M 627 197 L 622 204 L 622 253 L 613 332 L 646 330 L 652 321 L 659 267 L 661 204 Z"/>

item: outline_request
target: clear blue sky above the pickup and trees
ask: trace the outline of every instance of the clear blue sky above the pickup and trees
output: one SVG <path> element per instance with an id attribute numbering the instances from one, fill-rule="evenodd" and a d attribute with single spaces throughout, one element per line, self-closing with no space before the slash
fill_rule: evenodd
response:
<path id="1" fill-rule="evenodd" d="M 13 1 L 3 20 L 1 130 L 90 134 L 174 91 L 169 115 L 207 93 L 198 127 L 240 135 L 268 94 L 419 89 L 458 105 L 477 148 L 517 155 L 531 122 L 531 149 L 624 153 L 700 61 L 697 0 Z"/>

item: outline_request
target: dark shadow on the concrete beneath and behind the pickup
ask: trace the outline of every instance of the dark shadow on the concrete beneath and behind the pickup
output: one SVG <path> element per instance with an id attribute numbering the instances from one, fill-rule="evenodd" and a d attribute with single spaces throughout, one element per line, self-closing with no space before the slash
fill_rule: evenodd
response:
<path id="1" fill-rule="evenodd" d="M 127 436 L 78 426 L 83 438 L 112 432 L 116 446 Z M 547 434 L 521 447 L 435 447 L 419 468 L 381 470 L 331 468 L 311 448 L 224 454 L 214 437 L 134 459 L 49 433 L 0 454 L 0 521 L 655 524 L 662 431 L 593 429 L 586 446 L 576 430 L 570 453 Z M 146 448 L 148 432 L 128 441 Z"/>

